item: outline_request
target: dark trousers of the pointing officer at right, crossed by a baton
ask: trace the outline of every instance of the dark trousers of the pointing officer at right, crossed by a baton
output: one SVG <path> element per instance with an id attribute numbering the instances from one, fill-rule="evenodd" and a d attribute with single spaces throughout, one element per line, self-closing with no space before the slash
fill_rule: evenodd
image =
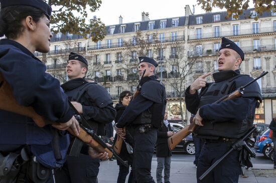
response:
<path id="1" fill-rule="evenodd" d="M 238 182 L 241 167 L 239 151 L 234 150 L 222 160 L 215 169 L 202 181 L 199 177 L 225 152 L 231 148 L 231 142 L 205 142 L 200 151 L 197 162 L 197 182 L 199 183 L 234 183 Z"/>

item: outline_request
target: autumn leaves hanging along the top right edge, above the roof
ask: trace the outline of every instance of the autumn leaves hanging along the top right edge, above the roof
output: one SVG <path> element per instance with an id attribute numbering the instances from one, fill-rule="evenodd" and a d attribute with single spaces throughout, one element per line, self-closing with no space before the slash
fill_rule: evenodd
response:
<path id="1" fill-rule="evenodd" d="M 213 7 L 226 8 L 227 16 L 229 18 L 233 15 L 234 18 L 238 18 L 242 14 L 243 10 L 249 7 L 249 0 L 197 0 L 198 5 L 207 12 L 212 11 Z M 262 15 L 265 11 L 273 10 L 276 11 L 276 1 L 275 0 L 253 0 L 255 12 Z M 254 19 L 257 20 L 258 16 Z"/>

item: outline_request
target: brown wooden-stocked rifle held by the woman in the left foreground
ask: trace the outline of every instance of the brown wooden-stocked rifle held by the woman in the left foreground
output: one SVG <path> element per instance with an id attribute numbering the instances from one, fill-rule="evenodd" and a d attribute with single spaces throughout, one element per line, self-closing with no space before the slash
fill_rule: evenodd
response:
<path id="1" fill-rule="evenodd" d="M 54 123 L 53 121 L 44 119 L 41 115 L 36 113 L 33 107 L 20 105 L 13 96 L 11 86 L 5 80 L 2 73 L 0 73 L 0 101 L 0 109 L 31 117 L 39 127 L 44 127 L 45 125 Z M 106 151 L 108 152 L 109 158 L 113 156 L 111 148 L 107 147 L 106 144 L 95 133 L 85 128 L 81 124 L 80 127 L 80 132 L 77 138 L 79 138 L 84 143 L 87 143 L 97 152 L 103 153 Z M 68 128 L 67 131 L 76 136 L 71 128 Z M 99 139 L 97 139 L 97 137 Z M 100 140 L 103 143 L 101 143 Z"/>

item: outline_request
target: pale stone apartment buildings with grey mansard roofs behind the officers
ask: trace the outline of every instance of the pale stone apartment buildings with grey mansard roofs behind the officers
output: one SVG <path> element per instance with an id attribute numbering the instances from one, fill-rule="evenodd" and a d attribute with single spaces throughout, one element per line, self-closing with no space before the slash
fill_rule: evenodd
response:
<path id="1" fill-rule="evenodd" d="M 121 91 L 135 90 L 137 58 L 153 57 L 160 62 L 156 75 L 166 86 L 169 119 L 189 121 L 184 90 L 199 75 L 217 70 L 216 53 L 225 36 L 245 52 L 241 73 L 257 77 L 268 71 L 257 81 L 263 102 L 255 121 L 269 123 L 276 116 L 276 13 L 264 12 L 255 20 L 257 14 L 248 9 L 239 17 L 225 19 L 226 11 L 194 14 L 186 5 L 183 15 L 150 20 L 149 13 L 143 12 L 142 21 L 131 23 L 123 23 L 120 16 L 119 24 L 106 26 L 107 35 L 96 43 L 57 33 L 51 51 L 36 55 L 46 61 L 48 72 L 64 82 L 68 53 L 83 54 L 89 61 L 88 77 L 102 84 L 114 101 Z"/>

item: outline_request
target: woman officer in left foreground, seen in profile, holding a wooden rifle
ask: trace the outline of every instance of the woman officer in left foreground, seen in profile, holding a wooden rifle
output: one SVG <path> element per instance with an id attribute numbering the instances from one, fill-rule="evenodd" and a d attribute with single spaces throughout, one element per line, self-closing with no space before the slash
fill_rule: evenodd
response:
<path id="1" fill-rule="evenodd" d="M 0 110 L 0 182 L 54 182 L 52 169 L 65 161 L 69 136 L 57 129 L 79 124 L 57 79 L 34 56 L 48 52 L 51 7 L 43 0 L 0 0 L 0 72 L 17 102 L 54 124 L 38 127 L 32 118 Z M 55 153 L 54 153 L 55 151 Z"/>

